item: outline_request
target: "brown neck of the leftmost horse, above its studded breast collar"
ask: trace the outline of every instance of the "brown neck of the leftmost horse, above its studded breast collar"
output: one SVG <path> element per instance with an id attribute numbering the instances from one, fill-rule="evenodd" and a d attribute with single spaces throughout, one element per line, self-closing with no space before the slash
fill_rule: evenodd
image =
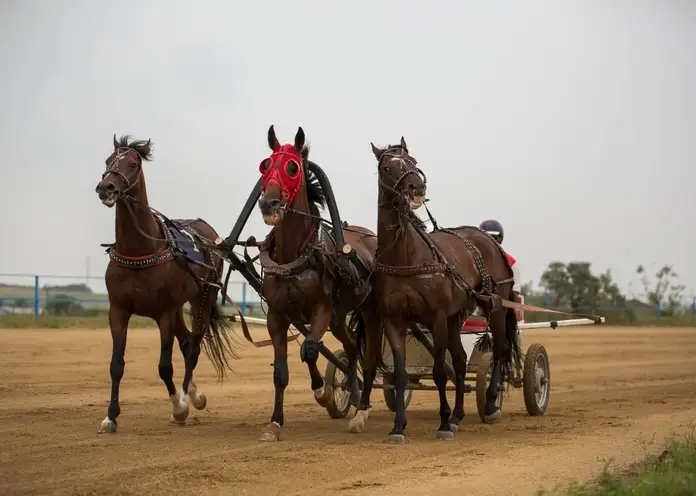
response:
<path id="1" fill-rule="evenodd" d="M 157 219 L 148 208 L 145 178 L 141 177 L 128 194 L 136 201 L 124 199 L 116 203 L 115 249 L 127 257 L 152 255 L 160 249 L 161 243 L 143 236 L 138 228 L 153 238 L 161 239 L 163 236 Z M 126 206 L 125 202 L 129 202 L 130 206 Z"/>

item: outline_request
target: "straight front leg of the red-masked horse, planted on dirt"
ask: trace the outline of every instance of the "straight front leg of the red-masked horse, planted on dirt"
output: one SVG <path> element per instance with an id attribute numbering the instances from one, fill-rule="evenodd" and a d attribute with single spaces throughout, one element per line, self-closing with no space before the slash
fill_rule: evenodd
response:
<path id="1" fill-rule="evenodd" d="M 288 328 L 290 322 L 273 311 L 268 312 L 268 334 L 273 342 L 273 385 L 275 386 L 275 403 L 271 422 L 266 424 L 259 441 L 279 441 L 280 429 L 285 423 L 283 416 L 283 395 L 290 382 L 288 371 Z"/>

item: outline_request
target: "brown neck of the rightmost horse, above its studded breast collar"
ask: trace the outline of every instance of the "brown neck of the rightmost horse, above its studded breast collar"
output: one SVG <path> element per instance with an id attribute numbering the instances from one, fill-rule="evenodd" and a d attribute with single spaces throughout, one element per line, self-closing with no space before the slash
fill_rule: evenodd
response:
<path id="1" fill-rule="evenodd" d="M 401 219 L 392 198 L 379 194 L 377 212 L 377 260 L 386 265 L 408 266 L 432 261 L 432 252 L 415 227 Z M 400 222 L 404 228 L 399 229 Z M 419 248 L 426 248 L 425 250 Z"/>

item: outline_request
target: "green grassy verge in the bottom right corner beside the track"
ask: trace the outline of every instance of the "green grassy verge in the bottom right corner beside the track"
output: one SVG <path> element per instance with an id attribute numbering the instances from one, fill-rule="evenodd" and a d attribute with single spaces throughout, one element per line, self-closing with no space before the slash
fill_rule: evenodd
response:
<path id="1" fill-rule="evenodd" d="M 537 494 L 550 494 L 539 491 Z M 650 456 L 632 470 L 613 474 L 604 469 L 596 483 L 571 483 L 568 496 L 681 496 L 696 494 L 696 437 L 670 441 L 659 456 Z"/>

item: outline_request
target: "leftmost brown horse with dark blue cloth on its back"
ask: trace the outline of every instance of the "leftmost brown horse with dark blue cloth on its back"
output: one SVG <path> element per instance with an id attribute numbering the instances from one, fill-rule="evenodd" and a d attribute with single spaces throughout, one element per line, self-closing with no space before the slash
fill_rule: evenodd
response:
<path id="1" fill-rule="evenodd" d="M 114 135 L 114 151 L 106 159 L 106 171 L 96 188 L 104 205 L 116 206 L 116 242 L 108 250 L 105 275 L 113 341 L 111 401 L 99 432 L 116 431 L 131 315 L 151 317 L 159 327 L 159 376 L 172 402 L 174 423 L 183 424 L 188 417 L 187 399 L 198 410 L 206 406 L 206 397 L 193 381 L 201 345 L 220 378 L 229 368 L 228 357 L 235 357 L 228 320 L 217 306 L 223 262 L 201 244 L 216 239 L 217 233 L 201 219 L 169 220 L 149 207 L 143 161 L 150 159 L 150 140 L 131 141 L 128 136 L 116 140 Z M 193 332 L 184 321 L 186 302 L 191 304 Z M 186 364 L 180 391 L 173 382 L 174 338 Z"/>

